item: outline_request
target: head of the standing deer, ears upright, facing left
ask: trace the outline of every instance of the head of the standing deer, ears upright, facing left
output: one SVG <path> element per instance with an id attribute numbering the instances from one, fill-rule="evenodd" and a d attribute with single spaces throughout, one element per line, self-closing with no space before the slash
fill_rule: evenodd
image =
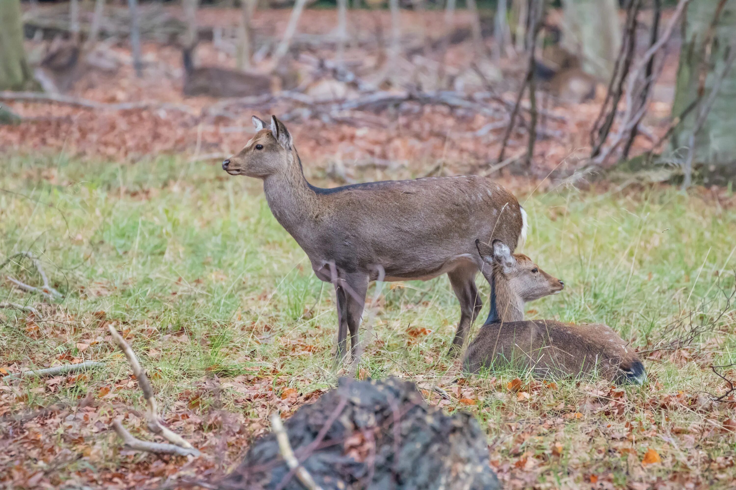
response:
<path id="1" fill-rule="evenodd" d="M 222 170 L 231 176 L 248 176 L 265 179 L 286 170 L 291 162 L 293 140 L 286 126 L 271 116 L 271 124 L 252 117 L 255 136 L 238 152 L 222 162 Z"/>

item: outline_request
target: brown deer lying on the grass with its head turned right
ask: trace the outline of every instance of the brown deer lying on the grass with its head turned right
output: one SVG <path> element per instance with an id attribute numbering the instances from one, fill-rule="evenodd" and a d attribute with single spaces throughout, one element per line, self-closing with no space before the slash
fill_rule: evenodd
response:
<path id="1" fill-rule="evenodd" d="M 526 255 L 511 253 L 501 240 L 478 241 L 478 253 L 492 270 L 491 313 L 465 355 L 470 372 L 511 364 L 536 375 L 590 375 L 613 382 L 642 384 L 644 366 L 634 349 L 600 323 L 570 325 L 555 320 L 524 320 L 524 303 L 555 295 L 565 287 Z"/>

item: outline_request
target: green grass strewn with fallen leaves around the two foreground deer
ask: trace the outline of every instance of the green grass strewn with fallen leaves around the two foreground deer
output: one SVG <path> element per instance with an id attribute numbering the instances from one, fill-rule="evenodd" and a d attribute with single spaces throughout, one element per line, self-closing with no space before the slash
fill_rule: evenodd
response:
<path id="1" fill-rule="evenodd" d="M 0 373 L 82 359 L 106 367 L 0 381 L 0 486 L 145 487 L 216 475 L 266 430 L 267 414 L 288 414 L 335 385 L 330 287 L 276 223 L 258 182 L 182 159 L 2 165 L 0 261 L 37 253 L 64 298 L 43 303 L 4 280 L 40 284 L 28 261 L 1 271 L 0 301 L 41 303 L 41 312 L 0 309 Z M 383 286 L 359 375 L 442 386 L 451 400 L 426 391 L 428 399 L 477 415 L 507 488 L 734 486 L 735 403 L 704 392 L 726 390 L 711 364 L 736 361 L 734 311 L 709 324 L 725 308 L 721 289 L 734 284 L 736 208 L 708 195 L 553 190 L 525 203 L 525 253 L 567 285 L 531 303 L 528 317 L 610 325 L 650 350 L 645 386 L 548 383 L 524 372 L 453 383 L 459 366 L 445 353 L 459 306 L 446 278 Z M 684 311 L 696 311 L 707 333 L 658 349 L 679 334 L 670 324 Z M 164 418 L 202 458 L 130 453 L 107 430 L 125 417 L 147 437 L 135 417 L 138 386 L 108 323 L 149 371 Z"/>

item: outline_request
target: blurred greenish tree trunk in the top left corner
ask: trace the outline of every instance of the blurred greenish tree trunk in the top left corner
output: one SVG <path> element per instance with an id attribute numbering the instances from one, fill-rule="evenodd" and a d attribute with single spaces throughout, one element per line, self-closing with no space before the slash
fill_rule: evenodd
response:
<path id="1" fill-rule="evenodd" d="M 0 90 L 27 90 L 34 85 L 23 48 L 21 2 L 0 0 Z"/>

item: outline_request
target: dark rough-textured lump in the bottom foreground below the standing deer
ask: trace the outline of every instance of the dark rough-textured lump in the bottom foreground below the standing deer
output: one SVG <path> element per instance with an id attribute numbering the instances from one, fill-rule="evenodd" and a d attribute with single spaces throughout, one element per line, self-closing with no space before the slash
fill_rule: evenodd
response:
<path id="1" fill-rule="evenodd" d="M 284 426 L 297 458 L 324 490 L 500 488 L 478 422 L 467 413 L 448 416 L 427 406 L 414 384 L 395 378 L 342 378 L 337 389 L 300 408 Z M 289 475 L 274 433 L 257 439 L 218 485 L 304 490 Z"/>

